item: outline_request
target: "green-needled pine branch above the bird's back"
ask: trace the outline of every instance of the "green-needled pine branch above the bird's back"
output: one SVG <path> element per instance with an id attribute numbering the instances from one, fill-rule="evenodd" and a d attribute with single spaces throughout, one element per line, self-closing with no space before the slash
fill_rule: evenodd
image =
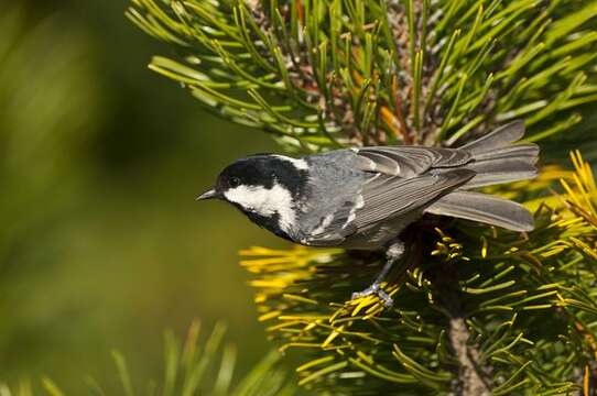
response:
<path id="1" fill-rule="evenodd" d="M 520 117 L 531 141 L 569 129 L 597 100 L 595 7 L 137 0 L 127 15 L 186 54 L 150 67 L 209 110 L 323 150 L 451 145 Z"/>

